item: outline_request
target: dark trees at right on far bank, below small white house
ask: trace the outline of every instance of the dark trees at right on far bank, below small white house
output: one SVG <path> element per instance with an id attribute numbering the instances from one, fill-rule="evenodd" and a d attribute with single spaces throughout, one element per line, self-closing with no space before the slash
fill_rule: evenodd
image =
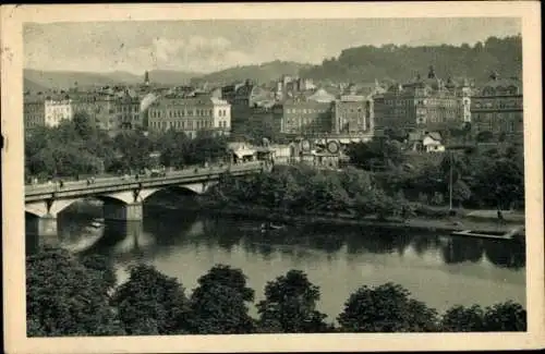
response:
<path id="1" fill-rule="evenodd" d="M 422 205 L 445 205 L 450 188 L 452 202 L 471 208 L 524 207 L 524 151 L 522 146 L 499 145 L 480 149 L 470 146 L 441 154 L 411 158 L 396 139 L 377 138 L 352 145 L 350 161 L 373 174 L 377 185 L 389 194 L 401 193 Z M 419 164 L 414 164 L 417 162 Z"/>

